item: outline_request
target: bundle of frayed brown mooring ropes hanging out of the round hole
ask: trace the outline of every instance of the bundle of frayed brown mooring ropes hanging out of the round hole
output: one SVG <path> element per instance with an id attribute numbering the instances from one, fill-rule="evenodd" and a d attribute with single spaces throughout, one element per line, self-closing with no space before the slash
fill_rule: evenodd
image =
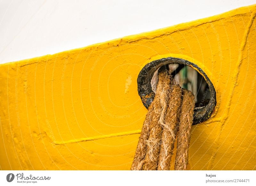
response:
<path id="1" fill-rule="evenodd" d="M 170 170 L 176 134 L 175 170 L 186 170 L 195 97 L 158 74 L 156 95 L 148 108 L 131 170 Z"/>

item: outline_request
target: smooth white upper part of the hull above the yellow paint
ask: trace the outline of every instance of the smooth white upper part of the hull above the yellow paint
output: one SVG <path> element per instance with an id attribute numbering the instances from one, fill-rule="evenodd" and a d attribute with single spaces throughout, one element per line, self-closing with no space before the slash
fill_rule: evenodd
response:
<path id="1" fill-rule="evenodd" d="M 0 63 L 220 14 L 256 0 L 0 0 Z"/>

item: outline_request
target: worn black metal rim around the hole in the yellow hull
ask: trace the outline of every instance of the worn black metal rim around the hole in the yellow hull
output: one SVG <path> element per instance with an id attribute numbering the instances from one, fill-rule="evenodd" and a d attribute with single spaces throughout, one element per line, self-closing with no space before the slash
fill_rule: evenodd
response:
<path id="1" fill-rule="evenodd" d="M 152 61 L 146 64 L 139 73 L 137 83 L 138 83 L 138 92 L 140 95 L 140 99 L 142 100 L 143 105 L 148 108 L 151 102 L 154 100 L 155 93 L 151 87 L 151 79 L 153 77 L 154 72 L 161 66 L 167 64 L 179 63 L 191 66 L 196 69 L 207 82 L 210 90 L 210 101 L 204 107 L 197 107 L 194 109 L 194 120 L 193 125 L 202 123 L 211 117 L 214 108 L 216 106 L 216 91 L 208 76 L 204 73 L 204 71 L 199 68 L 195 63 L 191 63 L 187 60 L 175 58 L 175 57 L 167 57 L 159 60 Z"/>

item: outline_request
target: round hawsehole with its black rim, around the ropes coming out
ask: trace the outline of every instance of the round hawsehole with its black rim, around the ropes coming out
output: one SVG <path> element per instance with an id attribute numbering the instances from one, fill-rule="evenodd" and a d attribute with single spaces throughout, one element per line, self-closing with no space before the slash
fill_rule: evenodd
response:
<path id="1" fill-rule="evenodd" d="M 137 79 L 138 93 L 143 105 L 148 108 L 154 100 L 157 84 L 154 78 L 157 78 L 157 71 L 163 68 L 169 70 L 176 84 L 194 93 L 196 103 L 193 124 L 202 123 L 210 118 L 216 106 L 215 88 L 200 67 L 180 58 L 162 58 L 143 67 Z"/>

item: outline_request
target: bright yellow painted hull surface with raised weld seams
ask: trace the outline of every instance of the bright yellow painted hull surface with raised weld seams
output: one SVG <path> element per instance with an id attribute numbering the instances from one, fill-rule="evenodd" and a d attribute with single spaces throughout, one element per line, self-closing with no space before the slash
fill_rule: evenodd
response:
<path id="1" fill-rule="evenodd" d="M 217 106 L 193 126 L 191 170 L 256 169 L 256 5 L 0 65 L 0 169 L 129 170 L 147 109 L 142 67 L 196 63 Z"/>

